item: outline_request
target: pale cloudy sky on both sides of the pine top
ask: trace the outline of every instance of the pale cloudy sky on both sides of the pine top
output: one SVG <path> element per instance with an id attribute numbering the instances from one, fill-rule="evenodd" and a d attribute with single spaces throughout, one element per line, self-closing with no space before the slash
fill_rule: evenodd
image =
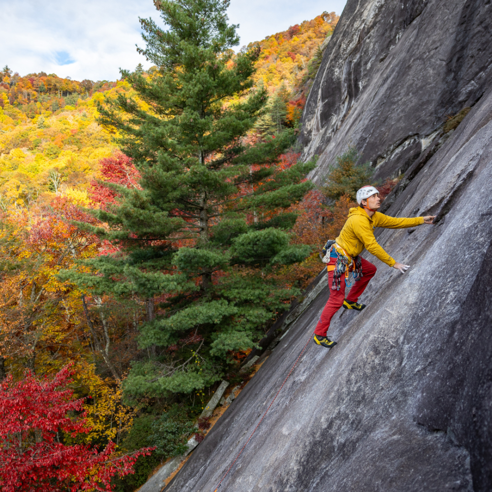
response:
<path id="1" fill-rule="evenodd" d="M 346 0 L 231 0 L 240 46 L 285 31 L 323 11 L 341 14 Z M 152 0 L 0 0 L 0 69 L 20 75 L 44 71 L 73 80 L 116 80 L 119 68 L 150 66 L 138 18 L 160 18 Z"/>

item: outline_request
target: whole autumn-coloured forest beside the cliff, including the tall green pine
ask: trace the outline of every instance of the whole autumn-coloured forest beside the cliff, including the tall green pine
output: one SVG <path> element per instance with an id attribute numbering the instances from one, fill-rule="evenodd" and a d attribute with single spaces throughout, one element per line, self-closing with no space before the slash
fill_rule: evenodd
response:
<path id="1" fill-rule="evenodd" d="M 185 3 L 141 20 L 148 70 L 0 72 L 6 492 L 133 491 L 203 439 L 370 180 L 351 149 L 314 186 L 296 142 L 335 13 L 235 52 L 227 2 Z"/>

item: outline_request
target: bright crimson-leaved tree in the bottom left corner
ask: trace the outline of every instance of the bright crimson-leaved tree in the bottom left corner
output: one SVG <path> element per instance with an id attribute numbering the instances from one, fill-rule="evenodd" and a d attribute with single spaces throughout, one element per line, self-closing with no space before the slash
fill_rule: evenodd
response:
<path id="1" fill-rule="evenodd" d="M 73 400 L 66 387 L 73 370 L 63 368 L 53 379 L 38 379 L 29 371 L 14 382 L 0 383 L 0 488 L 3 492 L 111 491 L 111 478 L 134 473 L 133 464 L 144 448 L 115 455 L 109 442 L 102 452 L 88 445 L 63 444 L 63 434 L 88 432 L 84 419 L 69 415 L 83 410 L 84 399 Z"/>

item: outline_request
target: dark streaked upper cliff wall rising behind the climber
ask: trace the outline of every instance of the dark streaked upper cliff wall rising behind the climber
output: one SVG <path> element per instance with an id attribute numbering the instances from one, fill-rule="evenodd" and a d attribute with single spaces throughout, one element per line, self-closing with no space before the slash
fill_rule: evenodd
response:
<path id="1" fill-rule="evenodd" d="M 375 179 L 397 176 L 448 115 L 492 85 L 489 0 L 348 0 L 302 119 L 303 156 L 322 180 L 353 145 Z"/>

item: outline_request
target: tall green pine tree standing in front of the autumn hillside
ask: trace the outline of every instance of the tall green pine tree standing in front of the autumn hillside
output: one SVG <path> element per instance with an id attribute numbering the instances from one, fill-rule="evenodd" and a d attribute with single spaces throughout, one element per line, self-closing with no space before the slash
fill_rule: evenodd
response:
<path id="1" fill-rule="evenodd" d="M 125 94 L 99 107 L 139 186 L 107 184 L 118 202 L 94 212 L 106 227 L 80 224 L 119 253 L 65 273 L 93 295 L 145 301 L 138 340 L 145 351 L 124 387 L 136 398 L 218 380 L 230 354 L 255 346 L 297 294 L 275 270 L 310 250 L 290 245 L 295 216 L 275 211 L 310 189 L 313 164 L 278 165 L 291 130 L 247 143 L 267 100 L 251 79 L 259 48 L 232 52 L 239 38 L 227 24 L 228 1 L 155 4 L 167 29 L 141 19 L 147 46 L 139 52 L 157 70 L 122 71 L 150 109 Z"/>

